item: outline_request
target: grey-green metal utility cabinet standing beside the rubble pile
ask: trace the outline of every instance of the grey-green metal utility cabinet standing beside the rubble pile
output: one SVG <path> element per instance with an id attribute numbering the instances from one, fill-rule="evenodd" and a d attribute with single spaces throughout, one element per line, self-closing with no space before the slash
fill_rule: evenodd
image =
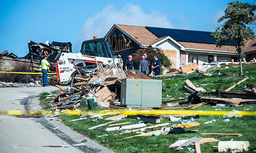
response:
<path id="1" fill-rule="evenodd" d="M 127 108 L 161 107 L 162 80 L 124 79 L 121 82 L 121 105 Z"/>

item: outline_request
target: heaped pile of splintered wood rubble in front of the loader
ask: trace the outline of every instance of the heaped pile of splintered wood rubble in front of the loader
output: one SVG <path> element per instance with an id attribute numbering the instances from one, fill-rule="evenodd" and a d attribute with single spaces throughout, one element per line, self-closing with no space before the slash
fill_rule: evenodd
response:
<path id="1" fill-rule="evenodd" d="M 123 79 L 151 79 L 138 70 L 127 70 L 125 77 L 122 74 L 113 74 L 113 66 L 105 72 L 101 70 L 98 72 L 98 75 L 97 73 L 91 74 L 87 79 L 75 77 L 72 87 L 67 87 L 67 89 L 56 85 L 62 91 L 48 97 L 48 99 L 53 99 L 50 103 L 53 109 L 76 108 L 83 98 L 94 98 L 98 103 L 116 102 L 120 98 L 120 85 Z"/>

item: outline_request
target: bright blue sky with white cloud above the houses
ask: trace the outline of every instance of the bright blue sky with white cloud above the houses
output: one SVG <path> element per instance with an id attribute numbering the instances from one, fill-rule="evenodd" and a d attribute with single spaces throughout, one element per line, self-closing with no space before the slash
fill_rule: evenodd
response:
<path id="1" fill-rule="evenodd" d="M 250 2 L 250 0 L 240 0 Z M 114 24 L 215 31 L 227 0 L 0 0 L 0 52 L 28 54 L 28 41 L 71 42 L 104 37 Z M 254 29 L 254 32 L 256 30 Z"/>

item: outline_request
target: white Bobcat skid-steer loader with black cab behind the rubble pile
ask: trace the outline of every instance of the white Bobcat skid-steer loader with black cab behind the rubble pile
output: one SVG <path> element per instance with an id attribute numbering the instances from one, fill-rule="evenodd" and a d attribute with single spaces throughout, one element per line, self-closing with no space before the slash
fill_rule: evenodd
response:
<path id="1" fill-rule="evenodd" d="M 75 78 L 91 78 L 91 75 L 99 74 L 101 70 L 106 70 L 114 65 L 116 73 L 121 73 L 124 78 L 125 74 L 120 64 L 120 58 L 114 58 L 109 38 L 98 38 L 83 41 L 79 53 L 62 53 L 59 60 L 55 63 L 57 80 L 61 84 L 69 84 L 72 87 Z"/>

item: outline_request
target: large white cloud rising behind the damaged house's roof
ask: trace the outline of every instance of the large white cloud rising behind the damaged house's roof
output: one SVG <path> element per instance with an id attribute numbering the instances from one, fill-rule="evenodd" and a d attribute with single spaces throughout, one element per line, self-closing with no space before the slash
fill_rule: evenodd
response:
<path id="1" fill-rule="evenodd" d="M 121 9 L 114 5 L 106 6 L 101 12 L 86 19 L 79 36 L 77 37 L 76 49 L 79 49 L 82 41 L 104 37 L 114 24 L 126 24 L 132 26 L 151 26 L 172 28 L 171 22 L 165 14 L 159 11 L 145 13 L 138 5 L 126 4 Z"/>

